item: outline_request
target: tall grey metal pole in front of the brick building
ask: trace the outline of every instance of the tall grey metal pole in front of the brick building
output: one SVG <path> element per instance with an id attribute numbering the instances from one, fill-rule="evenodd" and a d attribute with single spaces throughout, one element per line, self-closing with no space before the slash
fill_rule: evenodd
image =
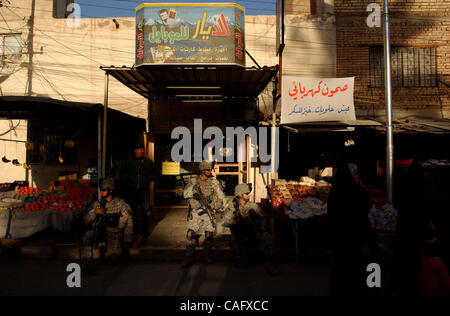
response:
<path id="1" fill-rule="evenodd" d="M 386 96 L 386 191 L 393 202 L 394 138 L 392 131 L 391 40 L 388 0 L 384 0 L 384 86 Z"/>

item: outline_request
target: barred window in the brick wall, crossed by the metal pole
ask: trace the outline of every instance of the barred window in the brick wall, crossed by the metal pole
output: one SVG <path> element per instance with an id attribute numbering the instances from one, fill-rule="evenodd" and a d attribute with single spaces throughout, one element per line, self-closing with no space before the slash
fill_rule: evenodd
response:
<path id="1" fill-rule="evenodd" d="M 393 47 L 391 49 L 393 87 L 436 86 L 435 47 Z M 384 48 L 370 48 L 370 84 L 384 86 Z"/>

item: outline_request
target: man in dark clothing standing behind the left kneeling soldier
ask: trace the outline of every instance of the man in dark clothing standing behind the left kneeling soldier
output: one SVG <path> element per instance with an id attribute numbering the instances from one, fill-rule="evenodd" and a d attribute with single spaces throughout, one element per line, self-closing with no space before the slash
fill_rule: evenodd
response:
<path id="1" fill-rule="evenodd" d="M 136 145 L 134 158 L 127 161 L 120 171 L 120 182 L 124 196 L 133 211 L 135 245 L 140 245 L 149 234 L 150 182 L 160 172 L 153 162 L 144 156 L 144 146 Z"/>

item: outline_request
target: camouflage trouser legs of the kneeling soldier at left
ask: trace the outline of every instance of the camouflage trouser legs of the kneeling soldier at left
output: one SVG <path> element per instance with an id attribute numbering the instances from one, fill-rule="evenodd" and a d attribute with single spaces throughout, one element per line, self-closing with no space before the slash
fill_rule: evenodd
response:
<path id="1" fill-rule="evenodd" d="M 118 259 L 122 254 L 122 233 L 108 233 L 106 235 L 106 243 L 103 247 L 105 247 L 105 259 L 114 260 Z M 81 240 L 81 259 L 92 260 L 92 252 L 95 245 L 94 241 L 95 232 L 93 230 L 87 231 L 83 235 L 83 239 Z M 100 245 L 102 247 L 102 245 Z"/>

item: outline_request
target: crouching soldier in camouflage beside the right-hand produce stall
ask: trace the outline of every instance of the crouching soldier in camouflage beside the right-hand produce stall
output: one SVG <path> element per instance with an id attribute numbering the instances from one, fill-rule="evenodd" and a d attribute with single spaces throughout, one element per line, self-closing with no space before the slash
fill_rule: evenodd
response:
<path id="1" fill-rule="evenodd" d="M 277 275 L 278 271 L 271 264 L 273 239 L 266 230 L 261 208 L 250 202 L 251 186 L 245 183 L 236 186 L 234 198 L 230 198 L 227 203 L 223 225 L 230 228 L 238 267 L 246 267 L 251 249 L 261 246 L 264 249 L 267 273 Z"/>

